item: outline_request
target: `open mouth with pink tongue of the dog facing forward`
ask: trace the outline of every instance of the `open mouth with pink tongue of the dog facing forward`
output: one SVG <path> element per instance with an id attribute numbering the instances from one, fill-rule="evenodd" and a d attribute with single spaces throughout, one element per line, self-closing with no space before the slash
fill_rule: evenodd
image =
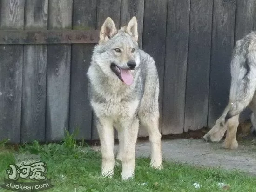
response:
<path id="1" fill-rule="evenodd" d="M 133 76 L 130 69 L 122 69 L 115 63 L 111 63 L 111 70 L 117 75 L 117 77 L 124 82 L 126 85 L 131 85 L 133 83 Z"/>

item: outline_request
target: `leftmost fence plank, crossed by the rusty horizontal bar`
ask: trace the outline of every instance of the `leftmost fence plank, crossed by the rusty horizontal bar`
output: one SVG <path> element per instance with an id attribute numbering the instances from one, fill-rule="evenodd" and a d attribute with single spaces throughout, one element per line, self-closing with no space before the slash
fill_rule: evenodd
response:
<path id="1" fill-rule="evenodd" d="M 23 29 L 24 0 L 0 1 L 0 29 Z M 20 143 L 22 45 L 0 45 L 0 141 Z"/>

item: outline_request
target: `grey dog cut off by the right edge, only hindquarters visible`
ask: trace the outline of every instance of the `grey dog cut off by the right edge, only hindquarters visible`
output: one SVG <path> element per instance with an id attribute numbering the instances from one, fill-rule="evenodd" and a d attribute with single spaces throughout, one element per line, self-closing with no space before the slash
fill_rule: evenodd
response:
<path id="1" fill-rule="evenodd" d="M 236 131 L 239 114 L 247 106 L 253 111 L 251 122 L 254 129 L 256 127 L 256 32 L 251 32 L 236 42 L 230 69 L 229 104 L 203 139 L 219 142 L 227 131 L 223 147 L 236 149 L 238 147 Z"/>

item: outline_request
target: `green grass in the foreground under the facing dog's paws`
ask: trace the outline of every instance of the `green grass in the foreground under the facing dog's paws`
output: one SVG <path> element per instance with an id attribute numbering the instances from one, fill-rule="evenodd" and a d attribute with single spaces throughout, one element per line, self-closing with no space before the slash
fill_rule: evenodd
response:
<path id="1" fill-rule="evenodd" d="M 83 143 L 76 143 L 66 134 L 61 143 L 40 145 L 37 141 L 16 149 L 0 143 L 0 183 L 5 170 L 14 163 L 14 152 L 40 154 L 47 164 L 46 176 L 53 188 L 47 192 L 221 192 L 218 183 L 230 185 L 230 192 L 256 191 L 256 177 L 238 171 L 200 168 L 173 162 L 164 162 L 162 171 L 149 167 L 148 158 L 136 159 L 135 178 L 121 180 L 121 166 L 115 167 L 113 179 L 101 178 L 101 154 Z M 230 162 L 232 163 L 232 162 Z M 193 186 L 202 185 L 199 189 Z M 0 192 L 10 192 L 0 188 Z"/>

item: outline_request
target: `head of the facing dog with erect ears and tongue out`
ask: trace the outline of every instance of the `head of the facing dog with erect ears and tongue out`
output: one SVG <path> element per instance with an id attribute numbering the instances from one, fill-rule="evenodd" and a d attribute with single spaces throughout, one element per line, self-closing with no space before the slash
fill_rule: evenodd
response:
<path id="1" fill-rule="evenodd" d="M 133 83 L 134 70 L 140 65 L 138 54 L 138 24 L 133 17 L 127 26 L 117 30 L 108 17 L 101 26 L 99 45 L 94 49 L 93 62 L 108 77 Z"/>

